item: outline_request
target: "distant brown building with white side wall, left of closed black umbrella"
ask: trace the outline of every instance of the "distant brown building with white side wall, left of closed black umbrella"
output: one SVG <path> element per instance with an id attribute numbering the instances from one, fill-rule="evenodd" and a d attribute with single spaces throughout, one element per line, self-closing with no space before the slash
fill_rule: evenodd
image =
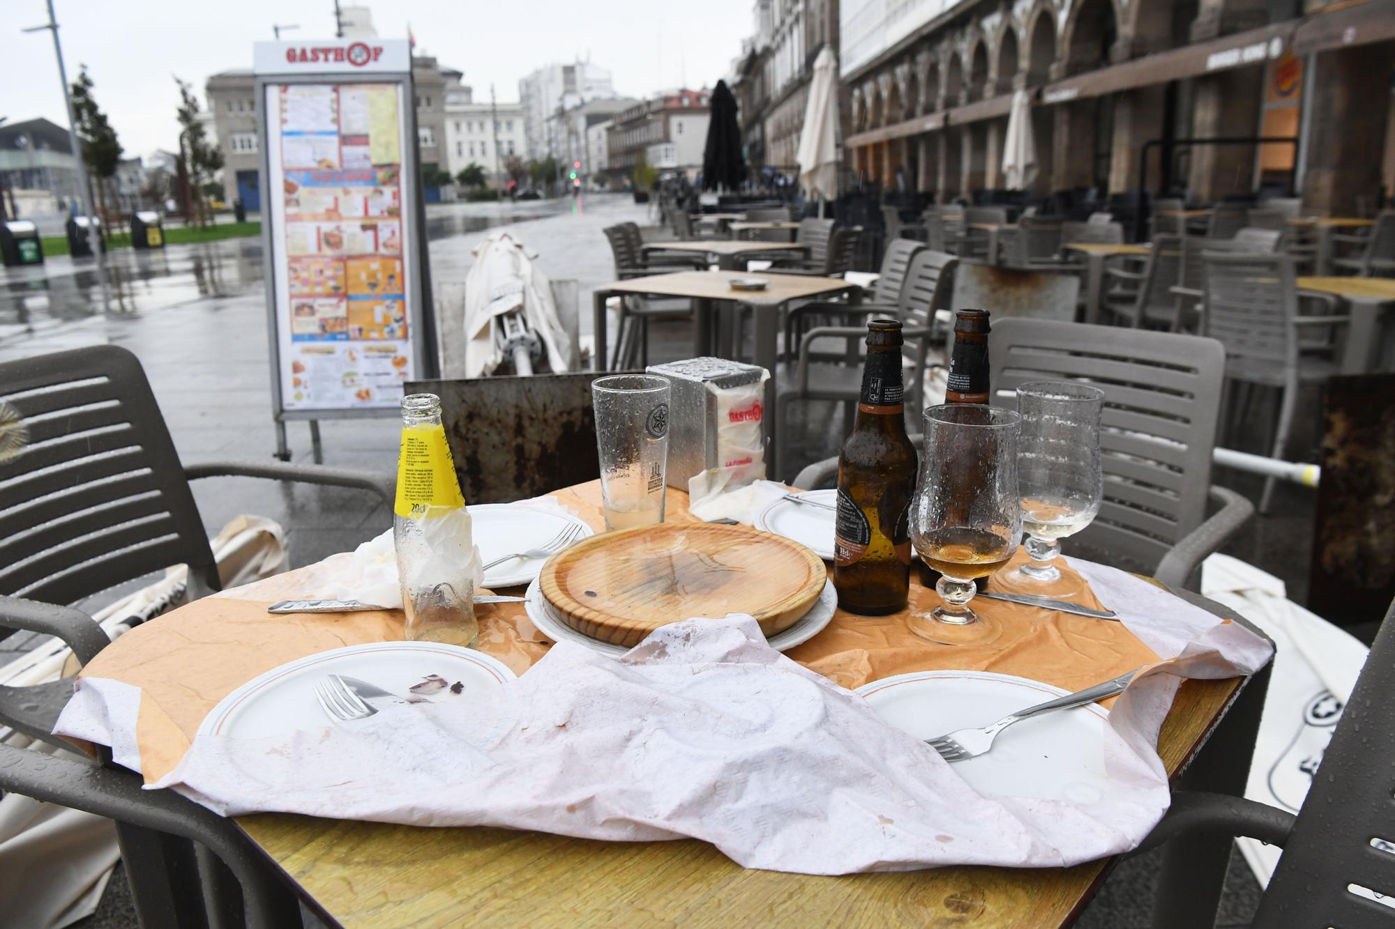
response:
<path id="1" fill-rule="evenodd" d="M 631 177 L 640 156 L 651 167 L 702 169 L 711 93 L 678 89 L 618 113 L 607 133 L 612 176 Z"/>

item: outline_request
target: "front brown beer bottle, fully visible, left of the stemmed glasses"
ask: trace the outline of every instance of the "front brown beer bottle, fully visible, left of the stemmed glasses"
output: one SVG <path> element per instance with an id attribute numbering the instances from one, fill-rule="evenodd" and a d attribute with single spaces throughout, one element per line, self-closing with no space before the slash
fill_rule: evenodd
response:
<path id="1" fill-rule="evenodd" d="M 838 452 L 838 513 L 833 586 L 838 605 L 876 617 L 905 607 L 911 589 L 911 497 L 915 446 L 905 435 L 901 324 L 868 324 L 852 434 Z"/>

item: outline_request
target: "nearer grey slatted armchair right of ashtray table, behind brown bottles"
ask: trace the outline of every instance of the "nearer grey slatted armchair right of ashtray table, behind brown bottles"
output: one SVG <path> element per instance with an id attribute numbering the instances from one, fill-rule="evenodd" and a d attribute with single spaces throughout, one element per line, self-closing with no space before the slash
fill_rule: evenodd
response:
<path id="1" fill-rule="evenodd" d="M 798 346 L 791 354 L 791 358 L 797 360 L 797 368 L 792 384 L 783 388 L 776 399 L 778 409 L 776 460 L 788 460 L 784 455 L 791 428 L 788 416 L 791 403 L 797 400 L 843 400 L 845 405 L 857 402 L 862 388 L 861 340 L 866 338 L 866 319 L 870 317 L 896 317 L 905 326 L 901 336 L 905 339 L 903 368 L 907 378 L 907 406 L 910 409 L 921 406 L 925 367 L 933 336 L 935 310 L 946 301 L 944 294 L 954 280 L 953 271 L 957 261 L 954 255 L 942 251 L 918 252 L 907 269 L 896 307 L 815 303 L 790 311 L 785 340 L 787 345 Z M 805 328 L 805 324 L 812 319 L 841 322 L 841 325 Z M 798 339 L 798 343 L 794 339 Z M 841 339 L 843 350 L 838 353 L 816 352 L 815 343 L 820 339 Z M 844 431 L 848 431 L 852 428 L 852 418 L 847 416 L 845 420 Z M 834 467 L 837 467 L 836 459 Z"/>

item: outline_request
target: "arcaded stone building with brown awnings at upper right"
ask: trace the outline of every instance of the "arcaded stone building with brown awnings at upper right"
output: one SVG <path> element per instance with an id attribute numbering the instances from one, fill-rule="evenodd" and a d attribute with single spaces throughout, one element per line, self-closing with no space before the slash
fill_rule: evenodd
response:
<path id="1" fill-rule="evenodd" d="M 1395 15 L 1382 0 L 1299 6 L 844 0 L 851 165 L 942 202 L 1002 188 L 1007 113 L 1024 89 L 1036 194 L 1209 202 L 1292 186 L 1310 208 L 1353 211 L 1391 172 Z M 1176 142 L 1260 135 L 1286 141 Z"/>

